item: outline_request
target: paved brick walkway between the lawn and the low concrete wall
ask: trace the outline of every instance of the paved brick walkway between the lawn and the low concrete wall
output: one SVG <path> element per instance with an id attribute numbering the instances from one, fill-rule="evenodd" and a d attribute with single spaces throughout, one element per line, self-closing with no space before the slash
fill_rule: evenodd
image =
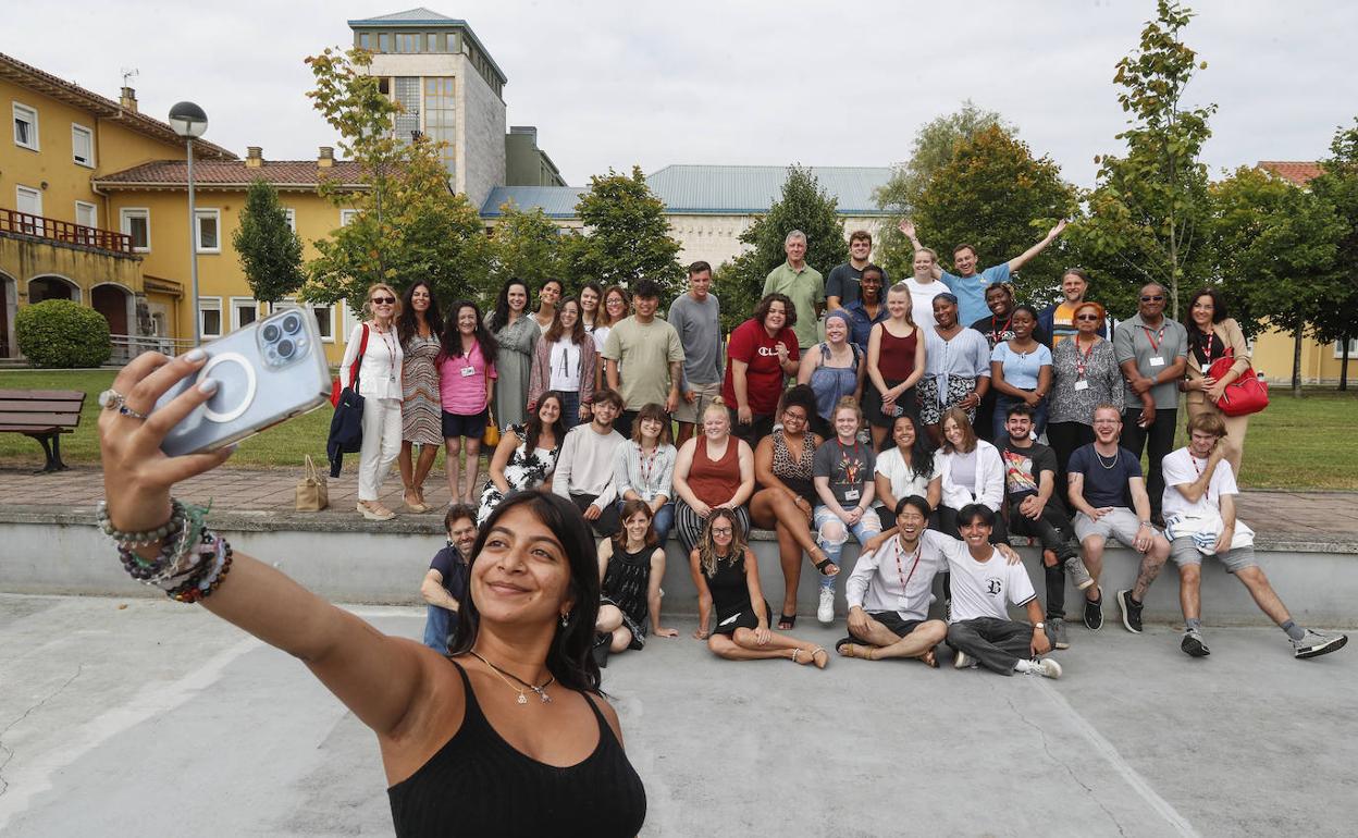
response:
<path id="1" fill-rule="evenodd" d="M 213 508 L 240 512 L 292 512 L 299 470 L 261 471 L 251 469 L 217 469 L 181 485 L 178 494 L 212 498 Z M 477 479 L 483 485 L 486 475 Z M 352 470 L 329 481 L 330 507 L 352 512 L 357 503 L 357 479 Z M 0 467 L 0 505 L 92 507 L 103 497 L 103 473 L 98 469 L 73 467 L 58 474 L 33 474 L 15 467 Z M 479 494 L 479 489 L 478 489 Z M 425 496 L 437 519 L 448 504 L 448 485 L 443 475 L 425 484 Z M 402 511 L 401 478 L 387 479 L 382 501 L 398 513 Z M 1296 541 L 1358 541 L 1358 492 L 1255 492 L 1240 500 L 1240 517 L 1256 531 L 1286 535 Z"/>

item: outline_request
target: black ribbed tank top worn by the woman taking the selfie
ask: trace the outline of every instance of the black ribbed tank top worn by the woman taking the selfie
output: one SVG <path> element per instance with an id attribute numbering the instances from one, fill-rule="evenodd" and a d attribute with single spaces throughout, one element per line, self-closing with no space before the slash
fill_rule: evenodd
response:
<path id="1" fill-rule="evenodd" d="M 466 671 L 449 663 L 467 695 L 462 727 L 429 762 L 387 789 L 398 837 L 607 838 L 641 831 L 646 789 L 593 698 L 585 695 L 599 723 L 599 746 L 570 767 L 550 766 L 490 727 Z"/>

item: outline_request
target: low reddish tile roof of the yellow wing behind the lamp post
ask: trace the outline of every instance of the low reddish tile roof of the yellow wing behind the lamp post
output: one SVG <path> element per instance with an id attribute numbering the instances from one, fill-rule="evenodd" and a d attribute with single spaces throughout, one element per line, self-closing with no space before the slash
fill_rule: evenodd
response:
<path id="1" fill-rule="evenodd" d="M 335 160 L 334 166 L 319 167 L 315 160 L 265 160 L 261 166 L 246 166 L 244 160 L 194 160 L 196 187 L 246 187 L 258 178 L 280 189 L 315 189 L 322 179 L 338 179 L 345 185 L 361 183 L 359 164 Z M 189 164 L 183 160 L 152 160 L 94 179 L 103 189 L 187 189 Z"/>

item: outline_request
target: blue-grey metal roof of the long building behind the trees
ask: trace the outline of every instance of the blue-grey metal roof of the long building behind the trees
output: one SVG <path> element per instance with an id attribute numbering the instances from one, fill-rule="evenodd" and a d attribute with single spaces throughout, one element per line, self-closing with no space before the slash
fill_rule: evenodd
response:
<path id="1" fill-rule="evenodd" d="M 822 189 L 838 201 L 839 215 L 885 215 L 873 190 L 891 179 L 885 166 L 813 166 Z M 752 215 L 769 212 L 788 179 L 784 166 L 665 166 L 646 183 L 669 215 Z M 508 200 L 520 209 L 540 206 L 553 219 L 572 219 L 587 190 L 577 186 L 497 186 L 481 206 L 481 216 L 500 216 Z"/>

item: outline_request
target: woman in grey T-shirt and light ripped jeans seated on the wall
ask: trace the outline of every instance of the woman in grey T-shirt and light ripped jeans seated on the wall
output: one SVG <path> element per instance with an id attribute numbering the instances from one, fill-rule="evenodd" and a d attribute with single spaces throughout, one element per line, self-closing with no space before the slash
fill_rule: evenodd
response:
<path id="1" fill-rule="evenodd" d="M 839 399 L 832 424 L 835 439 L 816 450 L 811 471 L 820 500 L 812 524 L 816 527 L 816 542 L 826 553 L 826 558 L 816 565 L 820 570 L 816 619 L 824 625 L 835 621 L 835 576 L 839 575 L 839 557 L 849 534 L 853 532 L 862 545 L 881 532 L 881 522 L 872 512 L 876 492 L 872 474 L 877 460 L 872 445 L 858 441 L 862 412 L 853 397 Z"/>

